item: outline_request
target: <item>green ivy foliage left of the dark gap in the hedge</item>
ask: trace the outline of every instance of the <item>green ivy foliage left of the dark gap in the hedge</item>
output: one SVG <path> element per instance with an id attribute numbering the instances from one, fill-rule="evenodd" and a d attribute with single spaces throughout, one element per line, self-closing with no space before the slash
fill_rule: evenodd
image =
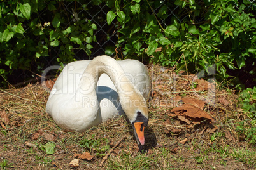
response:
<path id="1" fill-rule="evenodd" d="M 75 2 L 75 1 L 74 1 Z M 57 53 L 60 64 L 74 60 L 74 50 L 83 49 L 90 56 L 96 41 L 97 26 L 79 11 L 86 6 L 71 6 L 71 1 L 10 0 L 0 3 L 0 74 L 7 77 L 13 70 L 40 71 Z M 55 54 L 55 53 L 54 53 Z M 56 55 L 56 54 L 55 54 Z M 56 60 L 56 59 L 55 59 Z M 46 62 L 47 61 L 47 62 Z M 32 68 L 36 65 L 37 68 Z"/>

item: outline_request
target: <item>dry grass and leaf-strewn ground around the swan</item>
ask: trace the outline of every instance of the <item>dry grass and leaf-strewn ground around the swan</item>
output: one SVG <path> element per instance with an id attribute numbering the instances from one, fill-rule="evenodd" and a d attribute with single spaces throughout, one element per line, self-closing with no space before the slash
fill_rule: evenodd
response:
<path id="1" fill-rule="evenodd" d="M 0 92 L 2 169 L 255 169 L 255 145 L 236 130 L 238 95 L 194 74 L 150 65 L 153 93 L 146 144 L 127 119 L 85 133 L 59 128 L 39 82 Z M 48 82 L 48 88 L 50 88 Z"/>

